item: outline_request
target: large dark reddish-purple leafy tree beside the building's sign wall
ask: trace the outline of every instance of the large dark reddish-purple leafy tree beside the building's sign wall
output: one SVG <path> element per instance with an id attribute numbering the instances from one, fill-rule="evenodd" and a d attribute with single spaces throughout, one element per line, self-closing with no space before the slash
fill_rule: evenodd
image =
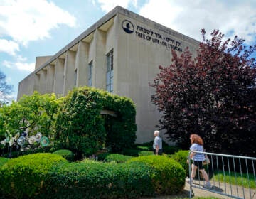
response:
<path id="1" fill-rule="evenodd" d="M 208 151 L 255 156 L 256 45 L 235 36 L 224 40 L 214 30 L 200 43 L 195 58 L 188 48 L 172 51 L 169 67 L 151 83 L 151 100 L 162 113 L 161 129 L 187 149 L 189 134 L 203 136 Z"/>

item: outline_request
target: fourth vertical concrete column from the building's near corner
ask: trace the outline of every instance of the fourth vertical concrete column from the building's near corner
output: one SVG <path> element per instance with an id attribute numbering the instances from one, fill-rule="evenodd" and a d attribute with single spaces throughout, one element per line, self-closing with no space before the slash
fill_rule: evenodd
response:
<path id="1" fill-rule="evenodd" d="M 57 58 L 55 65 L 53 92 L 55 95 L 63 95 L 65 60 Z"/>

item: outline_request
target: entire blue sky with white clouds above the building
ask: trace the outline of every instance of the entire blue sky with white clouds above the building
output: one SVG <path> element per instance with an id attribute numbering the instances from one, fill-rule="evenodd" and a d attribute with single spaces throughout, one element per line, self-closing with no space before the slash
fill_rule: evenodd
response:
<path id="1" fill-rule="evenodd" d="M 198 41 L 205 28 L 256 43 L 255 0 L 0 0 L 0 70 L 14 99 L 36 57 L 55 55 L 115 6 Z"/>

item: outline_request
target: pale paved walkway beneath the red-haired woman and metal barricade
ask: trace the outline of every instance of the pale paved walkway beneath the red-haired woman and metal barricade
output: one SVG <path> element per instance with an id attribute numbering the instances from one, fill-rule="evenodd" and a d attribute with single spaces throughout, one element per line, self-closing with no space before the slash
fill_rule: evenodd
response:
<path id="1" fill-rule="evenodd" d="M 188 178 L 186 179 L 186 181 L 188 180 Z M 197 187 L 201 187 L 203 181 L 201 181 L 201 185 L 199 183 L 199 181 L 194 181 L 194 185 Z M 211 182 L 213 184 L 213 182 Z M 215 198 L 221 198 L 221 199 L 227 199 L 227 198 L 231 198 L 228 197 L 226 195 L 221 195 L 218 193 L 226 193 L 229 195 L 235 195 L 235 197 L 240 197 L 240 198 L 245 198 L 245 199 L 256 199 L 256 190 L 255 189 L 251 189 L 249 190 L 248 188 L 242 188 L 242 187 L 238 187 L 238 186 L 234 186 L 234 185 L 230 185 L 229 184 L 224 184 L 224 183 L 217 183 L 215 182 L 215 184 L 213 184 L 213 188 L 210 190 L 213 190 L 217 193 L 213 193 L 211 191 L 208 191 L 208 189 L 201 189 L 201 188 L 195 188 L 193 187 L 193 193 L 195 195 L 195 197 L 215 197 Z M 185 183 L 185 188 L 181 191 L 181 193 L 178 193 L 176 195 L 164 195 L 164 196 L 159 196 L 157 197 L 157 199 L 175 199 L 175 198 L 189 198 L 189 190 L 190 190 L 190 185 L 189 183 Z M 243 195 L 245 194 L 245 195 Z M 156 199 L 156 198 L 144 198 L 144 199 Z"/>

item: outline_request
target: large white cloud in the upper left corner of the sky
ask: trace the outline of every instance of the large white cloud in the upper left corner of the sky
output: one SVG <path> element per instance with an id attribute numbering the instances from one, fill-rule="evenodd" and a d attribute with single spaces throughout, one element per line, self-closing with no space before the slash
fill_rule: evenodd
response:
<path id="1" fill-rule="evenodd" d="M 60 24 L 75 26 L 75 17 L 46 0 L 1 0 L 0 36 L 27 45 L 49 38 L 49 31 Z"/>

